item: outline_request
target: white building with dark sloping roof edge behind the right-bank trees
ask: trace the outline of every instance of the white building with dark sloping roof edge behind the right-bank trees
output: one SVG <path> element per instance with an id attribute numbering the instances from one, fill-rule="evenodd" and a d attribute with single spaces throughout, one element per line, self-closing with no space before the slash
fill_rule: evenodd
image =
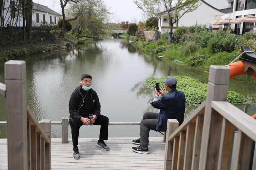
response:
<path id="1" fill-rule="evenodd" d="M 226 1 L 226 0 L 223 0 Z M 212 5 L 206 3 L 204 0 L 199 0 L 199 6 L 196 10 L 184 14 L 174 25 L 173 29 L 177 28 L 177 26 L 194 26 L 196 25 L 205 25 L 209 21 L 220 18 L 225 14 L 224 11 L 221 11 Z M 183 11 L 180 12 L 182 14 Z M 173 18 L 175 15 L 172 15 Z M 161 33 L 170 32 L 169 27 L 169 16 L 167 12 L 164 12 L 161 18 L 158 21 L 159 31 Z"/>

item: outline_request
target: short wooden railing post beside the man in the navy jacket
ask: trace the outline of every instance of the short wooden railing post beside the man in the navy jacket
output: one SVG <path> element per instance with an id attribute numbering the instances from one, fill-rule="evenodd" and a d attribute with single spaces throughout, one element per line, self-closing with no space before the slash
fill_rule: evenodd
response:
<path id="1" fill-rule="evenodd" d="M 170 142 L 169 136 L 179 127 L 179 122 L 176 119 L 167 120 L 167 130 L 166 130 L 166 143 L 165 143 L 165 156 L 164 156 L 164 169 L 172 168 L 172 149 L 173 141 Z"/>

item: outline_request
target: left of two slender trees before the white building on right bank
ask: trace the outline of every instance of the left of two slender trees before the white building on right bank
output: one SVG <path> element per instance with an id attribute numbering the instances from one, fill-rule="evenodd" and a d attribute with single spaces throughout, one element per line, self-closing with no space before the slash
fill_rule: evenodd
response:
<path id="1" fill-rule="evenodd" d="M 158 20 L 161 12 L 164 11 L 160 0 L 133 0 L 139 9 L 141 9 L 148 17 L 153 18 L 156 23 L 156 40 L 158 39 Z"/>

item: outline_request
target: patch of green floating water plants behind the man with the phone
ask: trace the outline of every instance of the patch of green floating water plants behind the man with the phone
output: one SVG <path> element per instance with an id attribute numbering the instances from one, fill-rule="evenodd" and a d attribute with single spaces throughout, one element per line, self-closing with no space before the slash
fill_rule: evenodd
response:
<path id="1" fill-rule="evenodd" d="M 183 91 L 186 96 L 186 104 L 188 107 L 198 107 L 205 99 L 207 94 L 207 84 L 201 83 L 194 78 L 188 76 L 174 76 L 177 79 L 177 90 Z M 146 80 L 146 85 L 154 89 L 156 83 L 160 83 L 160 87 L 167 94 L 168 92 L 164 88 L 164 82 L 162 81 L 167 77 L 161 78 L 148 78 Z M 251 99 L 244 97 L 243 95 L 228 91 L 227 101 L 233 105 L 242 105 L 252 103 Z"/>

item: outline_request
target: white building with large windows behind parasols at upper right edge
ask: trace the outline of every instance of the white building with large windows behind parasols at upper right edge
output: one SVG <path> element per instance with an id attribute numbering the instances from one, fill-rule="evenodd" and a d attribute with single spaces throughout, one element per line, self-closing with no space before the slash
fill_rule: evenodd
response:
<path id="1" fill-rule="evenodd" d="M 256 15 L 256 0 L 228 0 L 229 7 L 232 11 L 227 12 L 221 18 L 245 17 L 246 15 Z M 241 24 L 231 24 L 231 30 L 236 34 L 246 32 L 256 32 L 256 23 L 241 22 Z"/>

